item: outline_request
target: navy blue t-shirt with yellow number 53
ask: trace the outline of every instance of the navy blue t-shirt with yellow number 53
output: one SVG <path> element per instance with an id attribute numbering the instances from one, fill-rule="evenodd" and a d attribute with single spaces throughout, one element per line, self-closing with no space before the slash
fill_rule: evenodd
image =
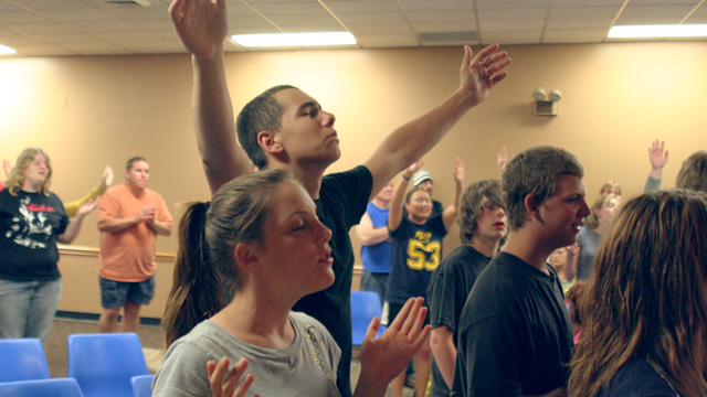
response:
<path id="1" fill-rule="evenodd" d="M 411 297 L 426 299 L 428 285 L 442 259 L 442 239 L 446 228 L 442 215 L 433 216 L 423 225 L 407 216 L 390 233 L 393 244 L 390 278 L 386 300 L 403 304 Z"/>

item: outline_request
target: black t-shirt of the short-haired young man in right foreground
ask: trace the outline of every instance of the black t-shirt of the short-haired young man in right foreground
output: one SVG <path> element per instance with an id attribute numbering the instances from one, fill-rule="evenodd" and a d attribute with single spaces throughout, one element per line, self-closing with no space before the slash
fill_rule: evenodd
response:
<path id="1" fill-rule="evenodd" d="M 499 253 L 462 311 L 453 396 L 546 394 L 567 385 L 572 328 L 557 272 Z"/>

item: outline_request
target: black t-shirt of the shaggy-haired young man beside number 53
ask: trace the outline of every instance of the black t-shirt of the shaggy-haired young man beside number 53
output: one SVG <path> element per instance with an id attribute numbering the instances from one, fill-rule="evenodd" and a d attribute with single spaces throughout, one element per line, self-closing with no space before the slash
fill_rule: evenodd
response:
<path id="1" fill-rule="evenodd" d="M 468 245 L 463 245 L 447 255 L 432 273 L 428 287 L 430 324 L 432 329 L 446 326 L 454 333 L 456 346 L 457 325 L 466 298 L 478 275 L 488 266 L 489 257 Z M 430 396 L 449 396 L 450 388 L 432 357 L 432 386 Z"/>

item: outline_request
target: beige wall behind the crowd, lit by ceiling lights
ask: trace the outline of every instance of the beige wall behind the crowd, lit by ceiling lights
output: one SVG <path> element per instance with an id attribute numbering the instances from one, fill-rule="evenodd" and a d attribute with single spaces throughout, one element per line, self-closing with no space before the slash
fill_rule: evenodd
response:
<path id="1" fill-rule="evenodd" d="M 654 139 L 665 139 L 671 152 L 665 186 L 673 185 L 684 158 L 707 146 L 705 42 L 506 50 L 513 58 L 507 79 L 424 158 L 443 203 L 452 195 L 454 157 L 465 161 L 468 182 L 497 178 L 502 146 L 515 152 L 563 146 L 584 164 L 590 201 L 606 180 L 620 182 L 624 195 L 641 192 Z M 264 88 L 287 83 L 333 111 L 342 157 L 330 171 L 340 171 L 455 89 L 461 57 L 458 47 L 239 53 L 226 56 L 226 73 L 236 109 Z M 562 92 L 559 116 L 532 115 L 538 87 Z M 208 198 L 190 95 L 187 55 L 0 60 L 1 155 L 14 161 L 25 147 L 48 150 L 55 171 L 52 190 L 65 202 L 96 185 L 104 165 L 114 168 L 120 183 L 125 160 L 145 155 L 150 186 L 177 217 L 181 203 Z M 84 221 L 75 245 L 97 247 L 95 222 L 95 215 Z M 176 242 L 160 237 L 157 250 L 173 254 Z M 457 244 L 455 227 L 445 251 Z M 95 265 L 95 256 L 63 255 L 61 310 L 99 311 Z M 158 298 L 145 310 L 148 316 L 161 314 L 171 282 L 170 261 L 159 265 Z"/>

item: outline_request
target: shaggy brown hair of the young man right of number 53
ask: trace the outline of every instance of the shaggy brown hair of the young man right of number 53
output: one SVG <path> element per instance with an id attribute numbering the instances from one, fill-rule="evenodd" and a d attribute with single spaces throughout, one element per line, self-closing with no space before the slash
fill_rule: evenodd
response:
<path id="1" fill-rule="evenodd" d="M 460 224 L 460 239 L 467 244 L 474 237 L 478 227 L 478 216 L 484 212 L 484 198 L 493 205 L 504 207 L 504 194 L 500 181 L 478 181 L 464 189 L 460 200 L 460 213 L 456 221 Z"/>

